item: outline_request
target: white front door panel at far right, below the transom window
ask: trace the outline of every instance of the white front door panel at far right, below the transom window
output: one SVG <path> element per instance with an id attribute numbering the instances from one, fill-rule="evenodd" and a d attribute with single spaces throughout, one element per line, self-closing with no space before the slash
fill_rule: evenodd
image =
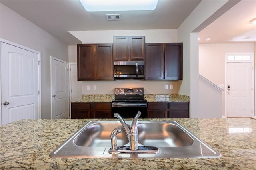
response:
<path id="1" fill-rule="evenodd" d="M 252 117 L 252 63 L 227 63 L 227 85 L 227 117 Z"/>

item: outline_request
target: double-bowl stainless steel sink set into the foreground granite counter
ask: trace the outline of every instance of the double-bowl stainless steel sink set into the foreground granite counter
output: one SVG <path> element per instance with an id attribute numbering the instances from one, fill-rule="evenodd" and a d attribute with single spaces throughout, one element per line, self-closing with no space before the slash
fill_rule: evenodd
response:
<path id="1" fill-rule="evenodd" d="M 126 121 L 130 125 L 131 121 Z M 154 146 L 158 154 L 109 154 L 110 134 L 119 121 L 88 122 L 51 154 L 52 158 L 219 158 L 221 154 L 176 121 L 138 121 L 139 146 Z M 117 146 L 129 146 L 122 128 Z"/>

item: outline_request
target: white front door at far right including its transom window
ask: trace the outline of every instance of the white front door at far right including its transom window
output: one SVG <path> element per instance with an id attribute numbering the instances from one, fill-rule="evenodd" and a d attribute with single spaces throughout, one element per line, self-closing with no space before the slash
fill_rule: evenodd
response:
<path id="1" fill-rule="evenodd" d="M 226 115 L 254 115 L 254 53 L 226 54 Z"/>

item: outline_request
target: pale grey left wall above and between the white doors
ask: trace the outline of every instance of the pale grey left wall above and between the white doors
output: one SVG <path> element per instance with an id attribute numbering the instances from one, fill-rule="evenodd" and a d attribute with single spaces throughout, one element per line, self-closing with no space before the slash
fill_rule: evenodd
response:
<path id="1" fill-rule="evenodd" d="M 0 4 L 0 37 L 41 52 L 42 118 L 51 117 L 50 55 L 68 61 L 68 45 Z"/>

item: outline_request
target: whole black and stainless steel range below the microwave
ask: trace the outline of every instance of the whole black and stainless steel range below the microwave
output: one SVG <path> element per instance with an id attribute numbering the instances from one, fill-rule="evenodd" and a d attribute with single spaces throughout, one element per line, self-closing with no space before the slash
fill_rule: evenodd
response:
<path id="1" fill-rule="evenodd" d="M 134 118 L 140 111 L 140 118 L 147 117 L 147 101 L 143 88 L 115 88 L 115 99 L 112 100 L 112 116 L 119 113 L 123 118 Z"/>

